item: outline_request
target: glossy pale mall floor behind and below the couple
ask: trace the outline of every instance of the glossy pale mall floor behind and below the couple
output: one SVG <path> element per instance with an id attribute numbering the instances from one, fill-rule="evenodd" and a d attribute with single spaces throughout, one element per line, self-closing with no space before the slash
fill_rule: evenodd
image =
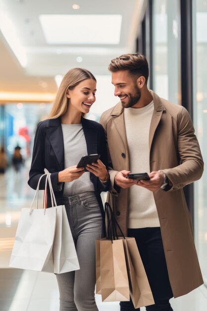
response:
<path id="1" fill-rule="evenodd" d="M 58 311 L 59 292 L 53 274 L 8 268 L 9 256 L 22 207 L 29 207 L 34 191 L 26 184 L 27 169 L 0 175 L 0 311 Z M 119 311 L 119 303 L 102 303 L 99 311 Z M 171 300 L 174 311 L 207 311 L 207 288 Z M 145 308 L 141 308 L 144 311 Z"/>

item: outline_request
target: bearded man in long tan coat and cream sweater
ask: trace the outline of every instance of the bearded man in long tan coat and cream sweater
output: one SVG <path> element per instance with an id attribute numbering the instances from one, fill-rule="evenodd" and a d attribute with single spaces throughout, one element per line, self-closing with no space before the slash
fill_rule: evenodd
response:
<path id="1" fill-rule="evenodd" d="M 203 284 L 183 192 L 201 178 L 203 158 L 187 110 L 147 88 L 143 55 L 122 55 L 109 70 L 121 101 L 100 119 L 111 160 L 108 199 L 124 233 L 136 238 L 155 301 L 146 310 L 172 311 L 170 298 Z M 129 179 L 130 172 L 150 180 Z M 131 301 L 120 306 L 139 310 Z"/>

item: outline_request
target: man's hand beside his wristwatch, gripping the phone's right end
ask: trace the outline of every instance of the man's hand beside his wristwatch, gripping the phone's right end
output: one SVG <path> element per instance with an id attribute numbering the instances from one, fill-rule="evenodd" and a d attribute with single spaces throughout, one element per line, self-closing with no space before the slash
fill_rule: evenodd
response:
<path id="1" fill-rule="evenodd" d="M 139 180 L 137 181 L 137 185 L 144 187 L 150 191 L 156 191 L 160 188 L 161 184 L 164 181 L 164 176 L 161 172 L 151 172 L 148 174 L 150 177 L 150 180 Z"/>

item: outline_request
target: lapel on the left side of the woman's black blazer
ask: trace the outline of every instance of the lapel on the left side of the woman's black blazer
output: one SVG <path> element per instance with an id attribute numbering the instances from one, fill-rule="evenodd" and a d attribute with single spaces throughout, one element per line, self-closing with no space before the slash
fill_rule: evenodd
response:
<path id="1" fill-rule="evenodd" d="M 64 141 L 61 118 L 50 119 L 49 126 L 45 127 L 45 131 L 58 159 L 60 168 L 64 169 Z"/>

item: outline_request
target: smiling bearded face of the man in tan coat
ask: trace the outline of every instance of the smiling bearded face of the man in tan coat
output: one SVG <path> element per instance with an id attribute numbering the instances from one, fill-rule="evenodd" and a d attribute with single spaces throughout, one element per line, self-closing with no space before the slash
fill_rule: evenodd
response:
<path id="1" fill-rule="evenodd" d="M 136 80 L 127 70 L 112 73 L 112 84 L 115 86 L 114 95 L 120 98 L 124 108 L 133 107 L 141 97 Z"/>

